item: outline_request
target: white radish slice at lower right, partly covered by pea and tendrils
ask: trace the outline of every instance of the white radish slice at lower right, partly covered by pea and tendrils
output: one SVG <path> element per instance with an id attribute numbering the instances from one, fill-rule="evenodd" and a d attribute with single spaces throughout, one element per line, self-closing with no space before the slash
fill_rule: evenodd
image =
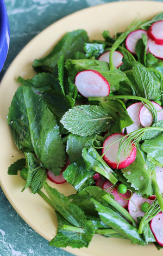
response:
<path id="1" fill-rule="evenodd" d="M 130 215 L 135 219 L 136 222 L 137 222 L 137 217 L 145 215 L 145 213 L 140 210 L 141 205 L 145 202 L 152 204 L 153 200 L 139 197 L 139 195 L 137 195 L 136 193 L 133 194 L 133 196 L 128 202 L 128 211 Z"/>

